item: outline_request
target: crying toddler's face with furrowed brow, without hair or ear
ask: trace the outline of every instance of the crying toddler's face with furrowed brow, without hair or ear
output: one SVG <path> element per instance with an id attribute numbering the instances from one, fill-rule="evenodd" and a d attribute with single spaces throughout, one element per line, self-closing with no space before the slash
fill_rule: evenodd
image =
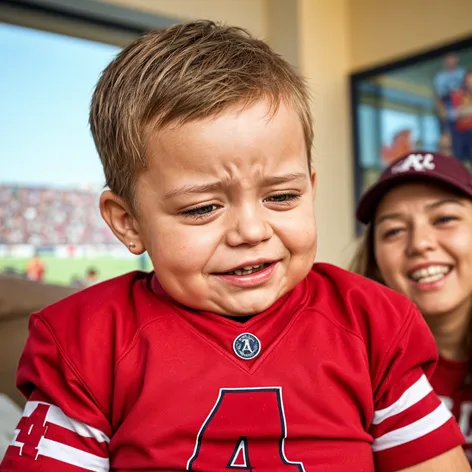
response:
<path id="1" fill-rule="evenodd" d="M 281 104 L 151 136 L 137 182 L 139 238 L 178 302 L 232 316 L 259 313 L 298 284 L 316 254 L 314 173 L 300 119 Z"/>

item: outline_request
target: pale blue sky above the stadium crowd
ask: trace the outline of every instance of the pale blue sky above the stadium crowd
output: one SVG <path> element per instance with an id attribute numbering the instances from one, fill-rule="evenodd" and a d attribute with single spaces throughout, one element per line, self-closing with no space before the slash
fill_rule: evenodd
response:
<path id="1" fill-rule="evenodd" d="M 103 185 L 88 107 L 118 51 L 0 23 L 0 184 Z"/>

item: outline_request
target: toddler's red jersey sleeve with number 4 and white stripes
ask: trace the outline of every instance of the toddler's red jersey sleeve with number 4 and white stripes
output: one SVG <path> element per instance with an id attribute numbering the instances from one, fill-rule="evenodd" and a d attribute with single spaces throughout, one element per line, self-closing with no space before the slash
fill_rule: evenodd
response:
<path id="1" fill-rule="evenodd" d="M 110 470 L 111 426 L 40 314 L 31 317 L 17 385 L 27 403 L 1 472 Z"/>

